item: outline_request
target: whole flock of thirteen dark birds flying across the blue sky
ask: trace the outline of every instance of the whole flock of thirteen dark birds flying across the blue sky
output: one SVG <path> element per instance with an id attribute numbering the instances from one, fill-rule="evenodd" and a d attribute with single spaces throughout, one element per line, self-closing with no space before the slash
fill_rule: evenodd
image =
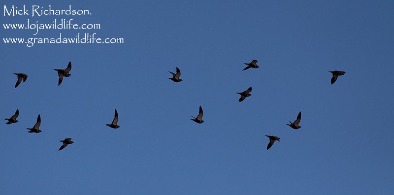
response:
<path id="1" fill-rule="evenodd" d="M 258 62 L 257 60 L 252 60 L 251 63 L 244 63 L 247 66 L 243 70 L 247 70 L 249 68 L 258 68 L 258 67 L 260 67 L 260 66 L 257 65 L 257 62 Z M 54 69 L 54 70 L 56 70 L 58 72 L 58 76 L 59 76 L 58 86 L 60 86 L 60 84 L 62 83 L 64 77 L 71 76 L 71 74 L 69 73 L 71 71 L 71 62 L 68 63 L 66 69 Z M 338 76 L 345 74 L 344 71 L 339 71 L 339 70 L 329 71 L 329 72 L 332 73 L 331 85 L 333 83 L 335 83 L 335 81 L 337 80 Z M 174 81 L 176 83 L 182 81 L 182 79 L 179 78 L 179 76 L 181 75 L 181 71 L 179 70 L 178 67 L 176 67 L 176 73 L 173 73 L 173 72 L 170 72 L 170 71 L 169 71 L 169 73 L 172 74 L 172 77 L 168 78 L 168 79 L 171 79 L 172 81 Z M 15 88 L 19 86 L 19 84 L 22 82 L 22 80 L 23 80 L 23 82 L 25 82 L 27 80 L 27 78 L 28 78 L 28 75 L 24 74 L 24 73 L 14 73 L 14 74 L 16 74 L 18 76 L 18 80 L 16 81 Z M 241 95 L 241 97 L 238 99 L 238 101 L 241 102 L 246 97 L 251 96 L 250 92 L 252 92 L 252 87 L 249 87 L 246 91 L 237 92 L 237 94 Z M 9 125 L 9 124 L 12 124 L 12 123 L 17 123 L 18 120 L 16 120 L 16 118 L 18 116 L 19 116 L 19 109 L 16 110 L 15 114 L 13 116 L 11 116 L 11 118 L 5 119 L 5 120 L 8 121 L 6 124 Z M 192 116 L 193 118 L 190 119 L 190 120 L 193 120 L 194 122 L 196 122 L 198 124 L 201 124 L 201 123 L 204 122 L 202 120 L 202 116 L 203 116 L 203 111 L 202 111 L 201 106 L 199 106 L 199 112 L 198 112 L 197 117 Z M 293 123 L 291 121 L 289 121 L 289 122 L 290 122 L 290 124 L 286 124 L 286 125 L 290 126 L 291 128 L 293 128 L 295 130 L 301 128 L 301 126 L 299 126 L 299 123 L 301 122 L 301 112 L 298 113 L 297 119 Z M 26 129 L 28 129 L 29 130 L 28 132 L 30 132 L 30 133 L 32 133 L 32 132 L 39 133 L 39 132 L 41 132 L 41 130 L 39 130 L 40 124 L 41 124 L 41 117 L 38 114 L 37 121 L 34 124 L 33 128 L 26 128 Z M 115 115 L 114 115 L 114 119 L 112 120 L 112 123 L 111 124 L 106 124 L 106 126 L 108 126 L 110 128 L 113 128 L 113 129 L 120 128 L 120 126 L 118 126 L 118 111 L 116 109 L 115 109 Z M 267 136 L 269 138 L 269 143 L 267 145 L 267 150 L 269 148 L 271 148 L 271 146 L 274 144 L 275 141 L 280 141 L 280 138 L 275 136 L 275 135 L 265 135 L 265 136 Z M 72 138 L 66 138 L 64 140 L 60 140 L 61 142 L 63 142 L 63 145 L 59 148 L 59 150 L 62 150 L 68 144 L 74 143 L 73 141 L 71 141 L 71 139 Z"/>

